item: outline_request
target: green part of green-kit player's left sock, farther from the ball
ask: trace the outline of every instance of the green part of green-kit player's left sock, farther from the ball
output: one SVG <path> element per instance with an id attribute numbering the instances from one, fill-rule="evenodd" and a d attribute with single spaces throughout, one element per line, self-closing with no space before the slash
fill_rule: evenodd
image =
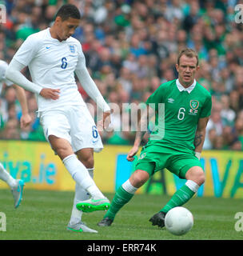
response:
<path id="1" fill-rule="evenodd" d="M 110 209 L 105 214 L 104 218 L 110 218 L 114 220 L 115 215 L 118 213 L 118 210 L 121 209 L 129 200 L 133 197 L 133 194 L 126 192 L 122 186 L 120 186 L 114 195 L 114 198 L 111 202 Z"/>

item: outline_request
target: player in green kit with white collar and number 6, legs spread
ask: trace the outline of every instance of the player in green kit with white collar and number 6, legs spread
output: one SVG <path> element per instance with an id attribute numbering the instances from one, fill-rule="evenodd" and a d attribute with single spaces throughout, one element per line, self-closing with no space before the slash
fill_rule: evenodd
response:
<path id="1" fill-rule="evenodd" d="M 200 154 L 211 113 L 211 95 L 195 80 L 199 66 L 194 50 L 181 50 L 176 68 L 178 79 L 163 83 L 146 102 L 148 112 L 155 111 L 157 129 L 153 129 L 149 142 L 141 150 L 135 171 L 118 188 L 110 210 L 98 226 L 110 226 L 118 210 L 129 202 L 136 190 L 158 170 L 166 168 L 187 181 L 173 194 L 169 202 L 149 219 L 153 226 L 165 226 L 165 214 L 173 207 L 188 202 L 205 182 Z M 164 114 L 160 114 L 160 106 L 164 106 Z M 141 118 L 133 148 L 127 155 L 128 161 L 133 161 L 139 150 L 145 134 L 143 128 L 148 123 L 145 119 L 148 116 L 149 114 L 146 114 L 146 118 Z"/>

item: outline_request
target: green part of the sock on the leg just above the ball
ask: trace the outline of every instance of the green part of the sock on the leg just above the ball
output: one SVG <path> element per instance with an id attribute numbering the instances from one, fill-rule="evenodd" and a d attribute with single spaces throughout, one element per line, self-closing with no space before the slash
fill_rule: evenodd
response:
<path id="1" fill-rule="evenodd" d="M 164 208 L 160 211 L 164 212 L 165 214 L 176 206 L 182 206 L 185 202 L 189 201 L 190 198 L 193 197 L 195 192 L 189 189 L 188 186 L 184 185 L 181 186 L 179 190 L 175 194 L 173 194 L 172 198 L 167 202 Z"/>

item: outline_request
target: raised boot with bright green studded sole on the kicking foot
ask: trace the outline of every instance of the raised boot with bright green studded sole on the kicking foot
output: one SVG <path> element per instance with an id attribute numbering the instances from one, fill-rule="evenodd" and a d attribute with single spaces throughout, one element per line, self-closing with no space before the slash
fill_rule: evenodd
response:
<path id="1" fill-rule="evenodd" d="M 95 210 L 109 210 L 110 201 L 108 200 L 108 198 L 90 198 L 86 201 L 78 202 L 76 207 L 78 210 L 82 210 L 85 213 L 90 213 Z"/>

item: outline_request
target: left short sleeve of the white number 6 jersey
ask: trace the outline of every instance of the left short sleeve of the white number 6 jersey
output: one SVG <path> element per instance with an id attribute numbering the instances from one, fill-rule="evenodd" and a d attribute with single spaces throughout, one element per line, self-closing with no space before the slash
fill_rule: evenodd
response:
<path id="1" fill-rule="evenodd" d="M 18 51 L 14 55 L 14 59 L 23 65 L 28 66 L 37 54 L 39 47 L 40 40 L 38 40 L 35 34 L 31 34 L 18 48 Z"/>

